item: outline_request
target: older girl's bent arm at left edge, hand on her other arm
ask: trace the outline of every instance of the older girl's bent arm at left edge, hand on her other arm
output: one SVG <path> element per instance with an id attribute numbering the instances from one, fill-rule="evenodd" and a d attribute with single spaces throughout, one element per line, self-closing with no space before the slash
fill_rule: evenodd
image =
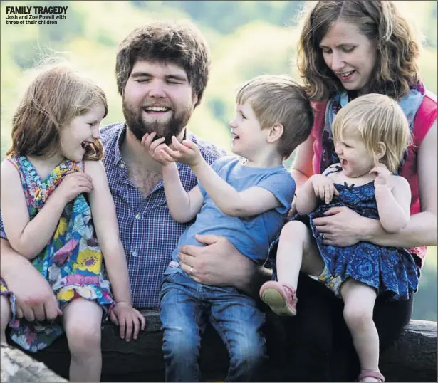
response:
<path id="1" fill-rule="evenodd" d="M 12 248 L 28 259 L 35 258 L 53 237 L 64 206 L 91 188 L 90 179 L 82 172 L 69 174 L 30 219 L 19 172 L 14 164 L 4 160 L 1 163 L 1 214 Z"/>

